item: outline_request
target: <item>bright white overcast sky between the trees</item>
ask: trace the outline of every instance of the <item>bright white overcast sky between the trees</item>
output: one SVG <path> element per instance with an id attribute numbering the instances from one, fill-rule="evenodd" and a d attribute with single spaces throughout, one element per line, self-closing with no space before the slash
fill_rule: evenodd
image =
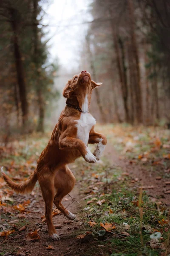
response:
<path id="1" fill-rule="evenodd" d="M 49 3 L 42 3 L 46 15 L 42 20 L 47 38 L 51 58 L 59 58 L 61 67 L 68 70 L 77 68 L 83 38 L 88 29 L 87 24 L 79 24 L 91 20 L 88 14 L 89 5 L 92 0 L 49 0 Z"/>

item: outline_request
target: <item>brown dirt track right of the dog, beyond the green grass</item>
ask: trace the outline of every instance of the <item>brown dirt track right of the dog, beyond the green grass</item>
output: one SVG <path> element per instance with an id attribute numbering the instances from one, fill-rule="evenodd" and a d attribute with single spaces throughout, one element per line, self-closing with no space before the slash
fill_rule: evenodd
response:
<path id="1" fill-rule="evenodd" d="M 152 166 L 146 168 L 144 164 L 133 163 L 133 161 L 127 160 L 125 157 L 120 156 L 113 146 L 108 143 L 105 156 L 110 160 L 113 166 L 118 166 L 122 168 L 123 173 L 129 174 L 132 177 L 132 181 L 135 178 L 138 179 L 138 183 L 131 183 L 129 186 L 142 186 L 153 201 L 161 201 L 170 207 L 170 193 L 165 193 L 170 190 L 170 185 L 166 186 L 165 182 L 168 179 L 159 178 L 160 172 L 153 171 Z"/>

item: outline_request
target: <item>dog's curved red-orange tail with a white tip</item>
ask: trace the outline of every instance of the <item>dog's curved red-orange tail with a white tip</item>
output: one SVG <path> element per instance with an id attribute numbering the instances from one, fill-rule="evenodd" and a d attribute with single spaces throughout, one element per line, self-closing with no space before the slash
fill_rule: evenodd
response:
<path id="1" fill-rule="evenodd" d="M 20 193 L 20 194 L 25 194 L 25 193 L 31 192 L 34 189 L 35 183 L 38 180 L 37 169 L 35 169 L 35 171 L 30 175 L 28 180 L 26 180 L 25 182 L 20 183 L 20 184 L 12 181 L 5 174 L 5 172 L 3 172 L 3 167 L 0 170 L 1 170 L 3 178 L 6 181 L 6 183 L 8 184 L 8 186 L 10 186 L 11 189 L 13 189 L 15 192 Z"/>

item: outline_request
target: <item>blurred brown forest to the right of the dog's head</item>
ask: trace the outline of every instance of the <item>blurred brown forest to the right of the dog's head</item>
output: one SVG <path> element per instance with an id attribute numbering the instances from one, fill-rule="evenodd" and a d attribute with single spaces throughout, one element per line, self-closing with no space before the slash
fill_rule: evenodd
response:
<path id="1" fill-rule="evenodd" d="M 91 109 L 103 122 L 170 122 L 170 1 L 94 0 L 90 12 L 82 63 L 104 83 Z"/>

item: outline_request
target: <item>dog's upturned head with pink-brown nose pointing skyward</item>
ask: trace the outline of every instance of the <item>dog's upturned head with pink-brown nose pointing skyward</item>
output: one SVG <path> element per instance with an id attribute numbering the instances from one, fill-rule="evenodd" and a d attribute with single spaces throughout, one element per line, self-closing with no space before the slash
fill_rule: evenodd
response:
<path id="1" fill-rule="evenodd" d="M 91 74 L 86 70 L 82 70 L 79 75 L 75 75 L 72 79 L 68 80 L 63 90 L 63 96 L 67 99 L 77 98 L 80 103 L 80 100 L 83 102 L 87 95 L 88 102 L 90 103 L 93 89 L 101 84 L 91 80 Z"/>

